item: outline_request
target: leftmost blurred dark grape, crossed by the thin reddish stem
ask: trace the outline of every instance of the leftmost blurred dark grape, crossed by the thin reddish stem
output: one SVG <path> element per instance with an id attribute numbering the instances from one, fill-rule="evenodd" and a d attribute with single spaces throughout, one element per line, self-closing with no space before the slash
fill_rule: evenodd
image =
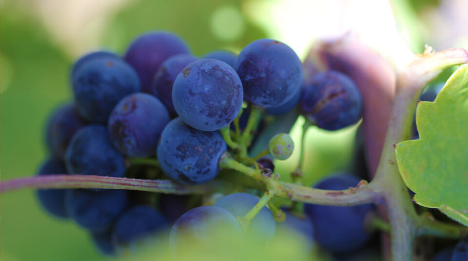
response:
<path id="1" fill-rule="evenodd" d="M 47 159 L 39 168 L 37 175 L 67 174 L 62 161 L 54 158 Z M 68 218 L 65 205 L 66 189 L 40 189 L 36 192 L 42 207 L 51 215 L 58 218 Z"/>

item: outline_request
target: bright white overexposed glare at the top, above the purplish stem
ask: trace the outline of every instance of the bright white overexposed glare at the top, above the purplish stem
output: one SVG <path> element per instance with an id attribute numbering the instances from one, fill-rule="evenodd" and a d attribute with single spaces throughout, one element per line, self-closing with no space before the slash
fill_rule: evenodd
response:
<path id="1" fill-rule="evenodd" d="M 412 58 L 388 0 L 248 0 L 244 11 L 304 58 L 314 40 L 352 31 L 397 66 Z"/>

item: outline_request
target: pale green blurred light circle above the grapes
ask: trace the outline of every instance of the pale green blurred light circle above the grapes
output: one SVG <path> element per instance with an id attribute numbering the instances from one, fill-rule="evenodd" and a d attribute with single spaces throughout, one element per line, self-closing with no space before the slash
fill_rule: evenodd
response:
<path id="1" fill-rule="evenodd" d="M 213 34 L 221 40 L 236 40 L 244 33 L 244 19 L 239 9 L 231 5 L 221 6 L 211 16 Z"/>

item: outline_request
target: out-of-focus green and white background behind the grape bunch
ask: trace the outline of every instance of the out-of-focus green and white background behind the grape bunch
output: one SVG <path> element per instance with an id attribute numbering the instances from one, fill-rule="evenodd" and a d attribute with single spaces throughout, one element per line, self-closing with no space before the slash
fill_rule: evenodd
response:
<path id="1" fill-rule="evenodd" d="M 273 38 L 304 59 L 314 40 L 348 31 L 394 66 L 425 44 L 468 48 L 467 0 L 1 0 L 0 9 L 1 180 L 31 176 L 47 157 L 44 123 L 71 99 L 72 62 L 99 48 L 122 54 L 149 30 L 180 35 L 198 56 L 215 49 L 239 52 L 253 40 Z M 301 120 L 292 128 L 294 139 Z M 308 132 L 308 184 L 351 169 L 356 129 Z M 295 169 L 296 148 L 291 159 L 278 162 L 279 173 Z M 84 230 L 47 216 L 34 191 L 2 194 L 0 204 L 2 260 L 104 259 Z"/>

